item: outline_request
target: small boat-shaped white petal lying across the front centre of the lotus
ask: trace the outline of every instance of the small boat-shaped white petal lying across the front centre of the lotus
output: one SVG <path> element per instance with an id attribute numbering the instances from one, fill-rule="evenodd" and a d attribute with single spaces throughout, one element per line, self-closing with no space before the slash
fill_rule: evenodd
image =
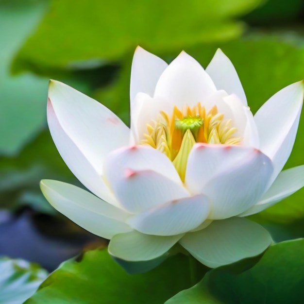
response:
<path id="1" fill-rule="evenodd" d="M 139 232 L 156 236 L 185 233 L 202 224 L 208 217 L 210 203 L 204 195 L 157 206 L 130 217 L 127 223 Z"/>

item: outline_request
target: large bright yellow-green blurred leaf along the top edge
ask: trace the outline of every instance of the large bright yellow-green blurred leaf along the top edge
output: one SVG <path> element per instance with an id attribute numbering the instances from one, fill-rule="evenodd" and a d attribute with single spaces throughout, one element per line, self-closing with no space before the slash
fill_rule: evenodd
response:
<path id="1" fill-rule="evenodd" d="M 17 62 L 27 67 L 73 68 L 85 62 L 96 66 L 121 58 L 138 44 L 156 52 L 227 41 L 242 32 L 243 24 L 233 18 L 261 2 L 53 0 Z"/>

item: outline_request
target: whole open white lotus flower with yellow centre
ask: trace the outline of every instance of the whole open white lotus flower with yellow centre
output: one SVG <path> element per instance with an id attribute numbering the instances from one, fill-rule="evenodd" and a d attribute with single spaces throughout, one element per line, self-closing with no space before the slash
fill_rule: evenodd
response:
<path id="1" fill-rule="evenodd" d="M 109 252 L 124 260 L 157 258 L 176 243 L 209 267 L 254 256 L 272 239 L 243 217 L 304 186 L 304 166 L 281 172 L 303 92 L 302 82 L 291 84 L 253 117 L 222 51 L 204 70 L 184 51 L 167 65 L 138 47 L 131 129 L 101 103 L 51 81 L 52 138 L 93 194 L 52 180 L 41 189 L 69 219 L 111 239 Z"/>

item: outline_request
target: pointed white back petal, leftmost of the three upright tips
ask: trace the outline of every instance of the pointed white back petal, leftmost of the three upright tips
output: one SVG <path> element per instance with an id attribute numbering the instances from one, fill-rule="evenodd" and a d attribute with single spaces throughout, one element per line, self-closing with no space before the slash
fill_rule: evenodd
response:
<path id="1" fill-rule="evenodd" d="M 153 96 L 159 76 L 168 64 L 159 57 L 137 47 L 131 68 L 130 100 L 131 108 L 135 96 L 139 92 Z"/>

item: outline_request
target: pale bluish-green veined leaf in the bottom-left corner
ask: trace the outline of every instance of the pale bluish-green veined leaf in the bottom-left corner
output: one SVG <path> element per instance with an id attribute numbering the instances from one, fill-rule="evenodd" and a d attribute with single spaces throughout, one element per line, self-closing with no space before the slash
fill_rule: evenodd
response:
<path id="1" fill-rule="evenodd" d="M 21 259 L 0 258 L 0 303 L 22 304 L 47 277 L 46 270 Z"/>

